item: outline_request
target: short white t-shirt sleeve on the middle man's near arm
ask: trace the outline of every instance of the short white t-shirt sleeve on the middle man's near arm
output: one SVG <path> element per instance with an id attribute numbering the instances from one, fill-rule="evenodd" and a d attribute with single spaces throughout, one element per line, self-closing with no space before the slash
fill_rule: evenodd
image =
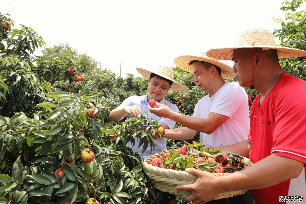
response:
<path id="1" fill-rule="evenodd" d="M 233 117 L 237 109 L 247 102 L 247 98 L 243 88 L 230 84 L 222 89 L 218 97 L 215 98 L 210 112 Z"/>

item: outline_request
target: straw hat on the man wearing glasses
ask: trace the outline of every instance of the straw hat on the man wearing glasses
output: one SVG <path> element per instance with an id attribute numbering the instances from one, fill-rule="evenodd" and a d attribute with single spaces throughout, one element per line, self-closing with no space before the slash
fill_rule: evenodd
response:
<path id="1" fill-rule="evenodd" d="M 146 79 L 150 78 L 151 73 L 154 73 L 158 76 L 162 76 L 170 81 L 173 81 L 170 89 L 173 91 L 187 91 L 188 88 L 176 81 L 174 81 L 174 70 L 171 67 L 159 66 L 158 68 L 149 71 L 147 69 L 136 68 L 137 71 Z"/>

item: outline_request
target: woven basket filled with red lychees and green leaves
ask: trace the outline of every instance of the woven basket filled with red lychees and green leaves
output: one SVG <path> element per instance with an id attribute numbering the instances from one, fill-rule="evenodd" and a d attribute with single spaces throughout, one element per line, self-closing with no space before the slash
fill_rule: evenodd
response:
<path id="1" fill-rule="evenodd" d="M 240 154 L 215 150 L 193 142 L 180 148 L 172 148 L 158 154 L 151 155 L 144 160 L 144 171 L 154 186 L 164 192 L 175 195 L 188 196 L 191 191 L 177 191 L 176 186 L 193 184 L 196 176 L 185 171 L 195 168 L 212 173 L 214 176 L 241 171 L 253 162 Z M 228 198 L 244 194 L 246 190 L 220 193 L 214 199 Z"/>

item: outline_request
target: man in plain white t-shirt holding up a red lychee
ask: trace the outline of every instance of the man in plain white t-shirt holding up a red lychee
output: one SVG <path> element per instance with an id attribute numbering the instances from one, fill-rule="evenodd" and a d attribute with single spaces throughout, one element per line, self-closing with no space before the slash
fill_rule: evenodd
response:
<path id="1" fill-rule="evenodd" d="M 151 113 L 167 117 L 185 127 L 167 129 L 166 138 L 192 139 L 200 132 L 201 141 L 210 145 L 231 145 L 245 141 L 249 134 L 248 96 L 236 82 L 226 82 L 235 76 L 232 68 L 206 56 L 181 56 L 174 59 L 181 69 L 191 72 L 194 82 L 208 94 L 201 98 L 192 116 L 177 113 L 167 106 L 156 103 L 159 108 L 148 107 Z M 210 204 L 254 204 L 251 191 L 231 198 L 208 202 Z"/>

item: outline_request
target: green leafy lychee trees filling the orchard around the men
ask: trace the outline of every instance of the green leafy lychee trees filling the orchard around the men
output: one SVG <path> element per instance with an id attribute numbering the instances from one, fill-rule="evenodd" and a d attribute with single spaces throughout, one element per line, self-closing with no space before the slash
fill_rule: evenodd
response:
<path id="1" fill-rule="evenodd" d="M 274 31 L 281 46 L 306 50 L 305 10 L 297 11 L 303 2 L 285 1 L 285 18 L 274 18 L 281 25 Z M 167 203 L 173 196 L 154 188 L 142 169 L 141 155 L 126 147 L 135 137 L 145 148 L 154 147 L 151 135 L 157 122 L 145 116 L 109 119 L 125 98 L 147 93 L 147 80 L 118 77 L 69 44 L 34 56 L 35 49 L 46 45 L 42 36 L 25 25 L 15 28 L 9 15 L 0 13 L 4 20 L 12 28 L 0 27 L 0 43 L 6 45 L 0 53 L 0 203 L 85 203 L 93 197 L 100 203 Z M 305 80 L 305 57 L 280 59 L 280 64 Z M 69 67 L 85 80 L 73 82 Z M 190 73 L 177 67 L 174 71 L 175 80 L 189 91 L 169 91 L 166 100 L 192 115 L 205 93 L 195 87 Z M 253 91 L 252 99 L 257 94 Z M 98 114 L 90 119 L 86 112 L 92 106 Z M 199 134 L 193 141 L 199 141 Z M 168 148 L 182 145 L 167 140 Z M 80 160 L 85 148 L 95 154 L 91 163 Z M 75 165 L 63 166 L 65 157 L 74 158 Z M 54 175 L 58 168 L 65 173 L 61 180 Z"/>

